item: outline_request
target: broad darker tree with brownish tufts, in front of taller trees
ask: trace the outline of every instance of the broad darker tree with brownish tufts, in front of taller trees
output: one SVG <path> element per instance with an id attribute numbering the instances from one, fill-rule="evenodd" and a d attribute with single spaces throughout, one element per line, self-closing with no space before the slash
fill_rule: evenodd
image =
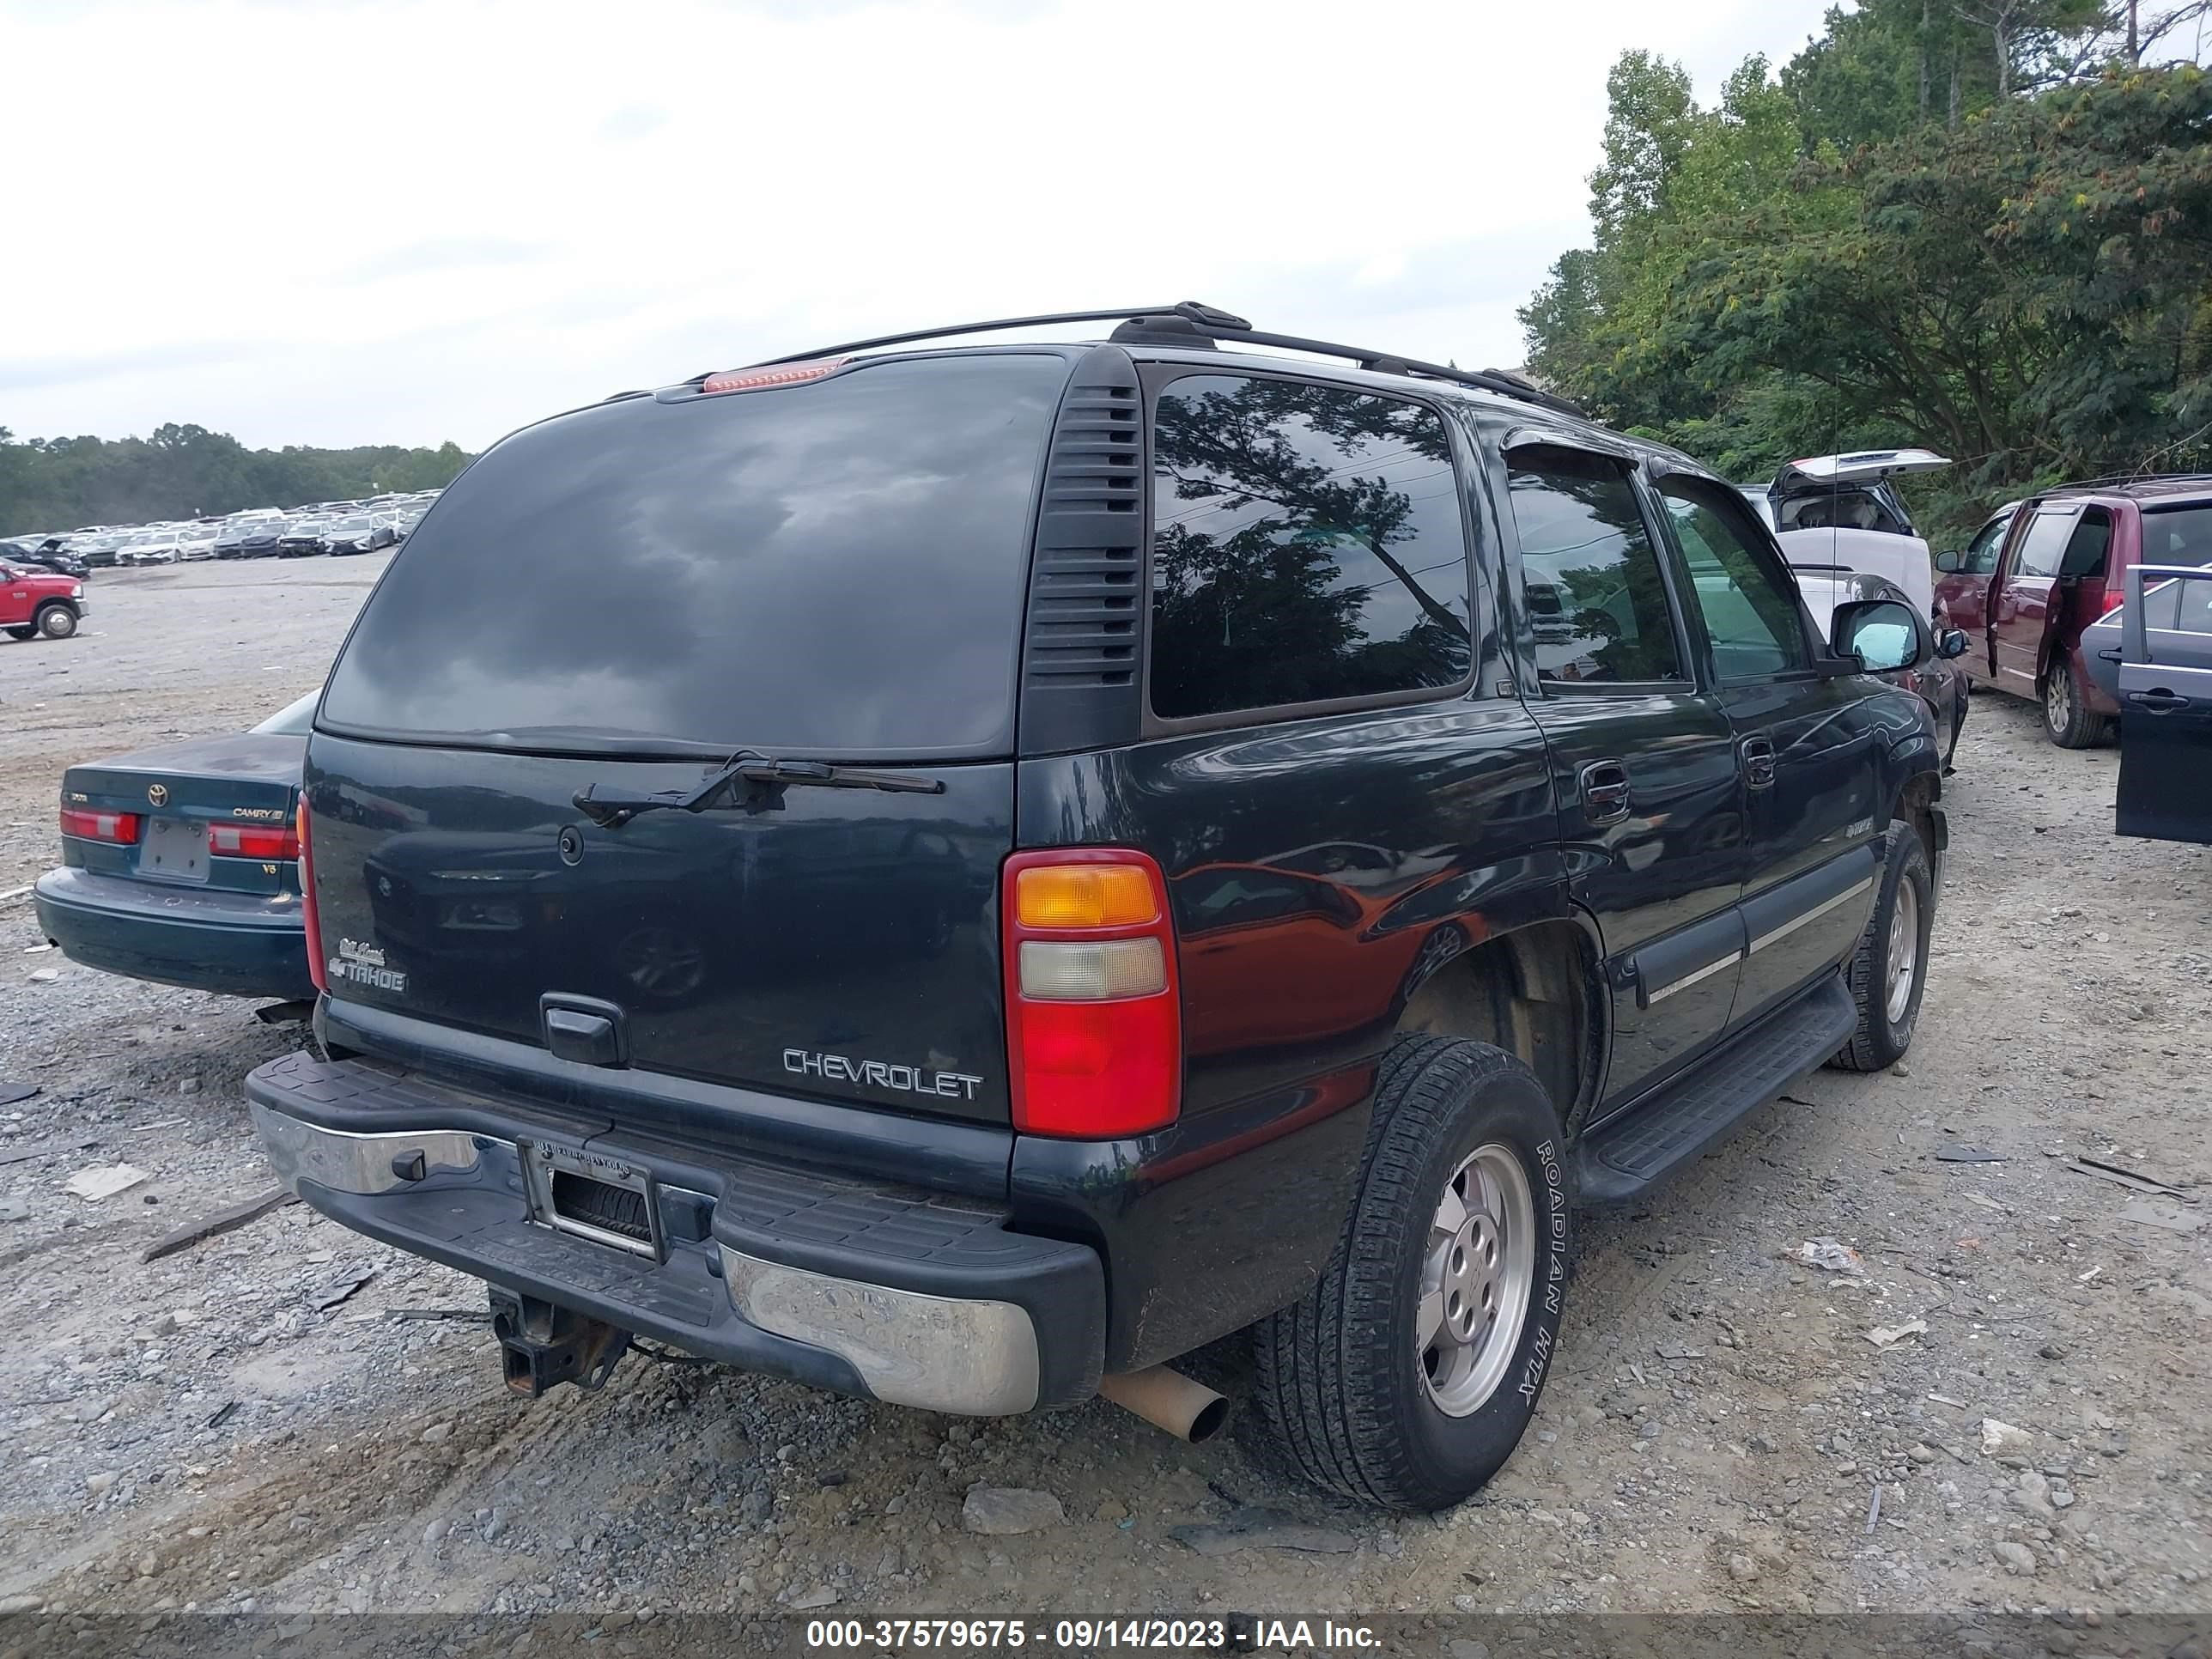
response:
<path id="1" fill-rule="evenodd" d="M 2212 80 L 2112 73 L 1805 168 L 1692 274 L 1663 349 L 2028 484 L 2205 453 L 2208 299 Z"/>

